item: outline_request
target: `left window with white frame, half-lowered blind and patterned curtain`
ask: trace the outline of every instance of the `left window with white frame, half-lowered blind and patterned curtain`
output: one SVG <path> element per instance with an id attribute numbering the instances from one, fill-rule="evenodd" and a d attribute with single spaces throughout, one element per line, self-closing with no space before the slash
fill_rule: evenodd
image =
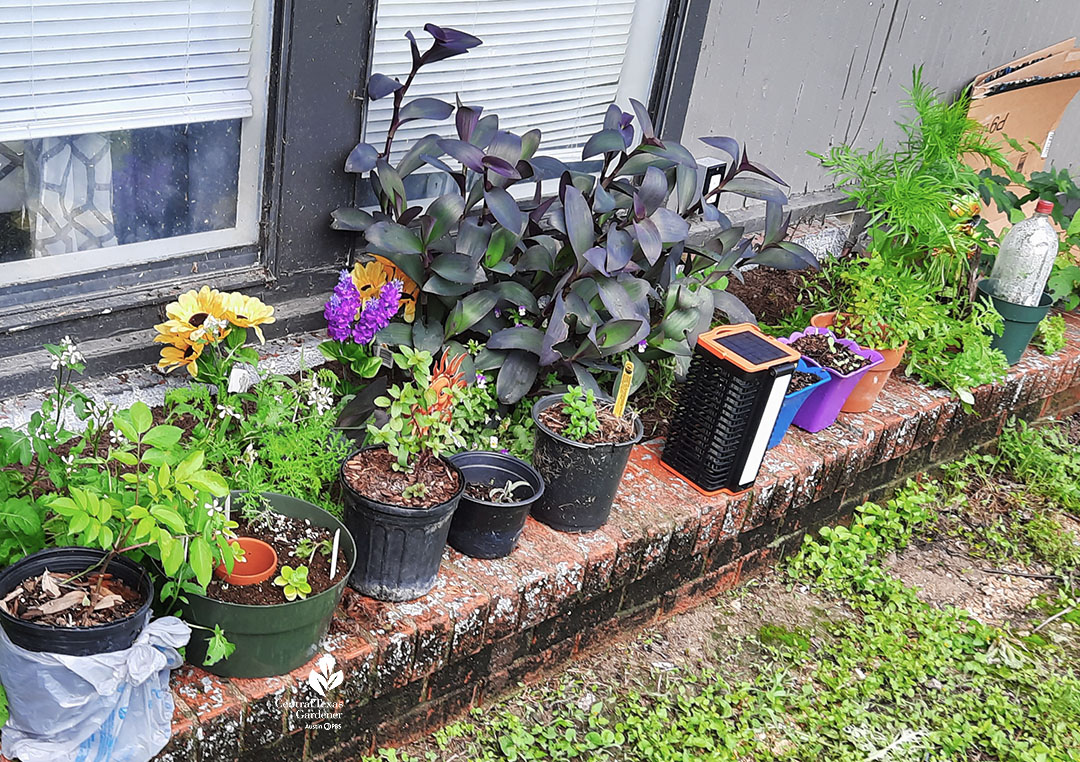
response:
<path id="1" fill-rule="evenodd" d="M 253 244 L 273 0 L 0 0 L 0 283 Z"/>

